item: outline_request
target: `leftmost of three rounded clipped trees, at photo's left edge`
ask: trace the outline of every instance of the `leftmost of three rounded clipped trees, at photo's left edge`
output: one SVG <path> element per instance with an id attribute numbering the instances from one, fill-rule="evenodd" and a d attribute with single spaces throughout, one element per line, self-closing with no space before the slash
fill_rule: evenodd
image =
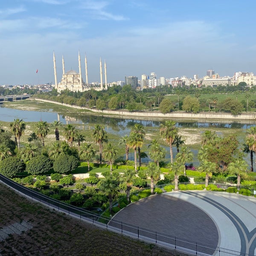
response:
<path id="1" fill-rule="evenodd" d="M 6 177 L 13 177 L 25 171 L 25 163 L 18 157 L 8 157 L 0 161 L 0 173 Z"/>

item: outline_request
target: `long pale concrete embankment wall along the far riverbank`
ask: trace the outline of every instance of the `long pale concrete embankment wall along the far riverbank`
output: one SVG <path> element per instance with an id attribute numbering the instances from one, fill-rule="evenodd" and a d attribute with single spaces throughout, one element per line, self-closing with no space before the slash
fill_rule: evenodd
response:
<path id="1" fill-rule="evenodd" d="M 54 103 L 57 105 L 62 105 L 70 108 L 77 108 L 77 109 L 84 109 L 84 110 L 90 110 L 92 112 L 96 113 L 104 113 L 104 114 L 110 114 L 110 115 L 120 115 L 120 116 L 133 116 L 137 118 L 145 118 L 145 117 L 153 117 L 153 118 L 177 118 L 177 119 L 218 119 L 218 120 L 233 120 L 233 121 L 239 121 L 239 120 L 248 120 L 248 121 L 255 121 L 256 120 L 256 113 L 242 113 L 241 115 L 238 116 L 233 116 L 230 113 L 215 113 L 215 112 L 200 112 L 197 114 L 194 113 L 186 113 L 186 112 L 172 112 L 172 113 L 167 113 L 163 114 L 159 111 L 125 111 L 125 110 L 98 110 L 98 109 L 91 109 L 91 108 L 86 108 L 86 107 L 79 107 L 77 105 L 69 105 L 61 102 L 54 102 L 51 100 L 47 99 L 39 99 L 39 98 L 34 98 L 35 100 L 42 101 L 42 102 L 49 102 L 49 103 Z"/>

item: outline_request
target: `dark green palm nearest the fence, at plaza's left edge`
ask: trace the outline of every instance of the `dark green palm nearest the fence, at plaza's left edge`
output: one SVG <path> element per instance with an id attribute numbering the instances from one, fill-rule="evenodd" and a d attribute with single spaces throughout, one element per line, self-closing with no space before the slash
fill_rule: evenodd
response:
<path id="1" fill-rule="evenodd" d="M 117 194 L 118 182 L 112 177 L 107 177 L 100 181 L 99 190 L 108 195 L 109 200 L 109 212 L 112 215 L 113 198 Z"/>

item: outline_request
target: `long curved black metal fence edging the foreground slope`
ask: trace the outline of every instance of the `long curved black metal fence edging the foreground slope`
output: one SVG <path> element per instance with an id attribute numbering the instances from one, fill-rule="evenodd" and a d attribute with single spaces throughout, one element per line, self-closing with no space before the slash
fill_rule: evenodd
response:
<path id="1" fill-rule="evenodd" d="M 61 201 L 50 198 L 46 195 L 42 195 L 32 189 L 28 189 L 25 186 L 22 186 L 9 178 L 0 174 L 0 181 L 6 185 L 12 187 L 18 192 L 42 203 L 49 207 L 58 209 L 62 212 L 65 212 L 76 218 L 88 221 L 93 224 L 97 224 L 102 227 L 106 227 L 110 230 L 118 231 L 122 234 L 127 234 L 138 239 L 144 239 L 155 244 L 164 245 L 166 247 L 174 248 L 175 250 L 182 250 L 187 253 L 192 253 L 196 255 L 203 256 L 253 256 L 247 253 L 241 253 L 234 250 L 228 250 L 221 247 L 215 247 L 207 244 L 202 244 L 195 241 L 190 241 L 187 239 L 178 238 L 168 234 L 160 233 L 154 230 L 149 230 L 143 227 L 138 227 L 132 224 L 128 224 L 122 221 L 117 221 L 79 207 L 71 206 L 70 204 L 65 204 Z"/>

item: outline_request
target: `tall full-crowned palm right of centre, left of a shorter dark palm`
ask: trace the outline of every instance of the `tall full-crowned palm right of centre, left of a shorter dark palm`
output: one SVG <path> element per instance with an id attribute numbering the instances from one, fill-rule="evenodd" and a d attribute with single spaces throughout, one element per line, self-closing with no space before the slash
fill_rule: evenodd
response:
<path id="1" fill-rule="evenodd" d="M 174 121 L 166 121 L 165 124 L 160 125 L 160 134 L 166 140 L 166 143 L 169 144 L 170 147 L 170 156 L 171 156 L 171 163 L 173 163 L 173 151 L 172 151 L 172 144 L 175 140 L 177 135 L 177 128 L 175 127 Z"/>

